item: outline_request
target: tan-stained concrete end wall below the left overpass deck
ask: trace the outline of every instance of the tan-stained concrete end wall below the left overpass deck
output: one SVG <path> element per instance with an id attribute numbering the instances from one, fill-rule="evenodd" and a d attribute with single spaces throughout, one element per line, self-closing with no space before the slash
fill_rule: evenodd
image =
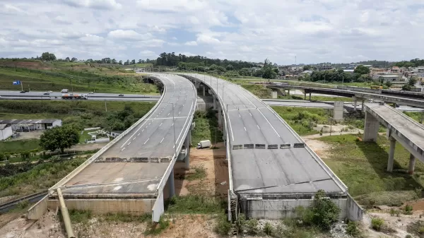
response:
<path id="1" fill-rule="evenodd" d="M 143 215 L 151 213 L 155 199 L 66 199 L 65 203 L 69 210 L 90 210 L 93 214 Z M 59 200 L 48 200 L 47 206 L 56 209 Z"/>

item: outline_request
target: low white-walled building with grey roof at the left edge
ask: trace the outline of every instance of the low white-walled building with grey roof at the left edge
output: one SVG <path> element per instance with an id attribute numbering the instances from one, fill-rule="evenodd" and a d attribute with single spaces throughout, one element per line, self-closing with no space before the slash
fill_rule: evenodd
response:
<path id="1" fill-rule="evenodd" d="M 13 131 L 36 131 L 61 126 L 61 119 L 2 119 L 0 124 L 8 124 Z"/>

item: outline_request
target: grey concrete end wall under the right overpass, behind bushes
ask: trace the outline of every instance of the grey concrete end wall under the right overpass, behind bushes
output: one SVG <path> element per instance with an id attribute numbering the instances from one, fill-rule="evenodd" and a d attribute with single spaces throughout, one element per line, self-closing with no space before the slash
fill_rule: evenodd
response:
<path id="1" fill-rule="evenodd" d="M 331 199 L 341 208 L 339 218 L 347 218 L 347 199 Z M 285 200 L 242 200 L 240 201 L 241 212 L 248 218 L 279 220 L 282 218 L 295 218 L 295 208 L 298 206 L 309 207 L 312 199 L 285 199 Z"/>

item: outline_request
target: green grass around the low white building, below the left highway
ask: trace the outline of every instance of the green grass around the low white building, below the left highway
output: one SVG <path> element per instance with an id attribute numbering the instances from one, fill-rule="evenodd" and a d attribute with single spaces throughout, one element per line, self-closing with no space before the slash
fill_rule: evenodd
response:
<path id="1" fill-rule="evenodd" d="M 88 127 L 124 130 L 143 117 L 155 102 L 0 100 L 0 119 L 62 119 L 82 130 Z M 88 138 L 88 133 L 81 140 Z M 83 142 L 83 141 L 81 141 Z M 38 148 L 38 140 L 0 142 L 0 153 Z"/>

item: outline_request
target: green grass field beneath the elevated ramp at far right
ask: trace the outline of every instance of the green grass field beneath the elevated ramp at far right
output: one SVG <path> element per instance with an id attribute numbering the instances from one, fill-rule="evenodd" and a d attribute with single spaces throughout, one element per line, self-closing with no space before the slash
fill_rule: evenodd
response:
<path id="1" fill-rule="evenodd" d="M 394 172 L 386 172 L 389 141 L 385 136 L 379 136 L 377 143 L 359 141 L 355 135 L 318 140 L 331 144 L 329 158 L 324 162 L 362 204 L 399 205 L 416 198 L 423 189 L 423 163 L 417 162 L 415 174 L 409 175 L 409 153 L 399 143 L 394 154 Z"/>

